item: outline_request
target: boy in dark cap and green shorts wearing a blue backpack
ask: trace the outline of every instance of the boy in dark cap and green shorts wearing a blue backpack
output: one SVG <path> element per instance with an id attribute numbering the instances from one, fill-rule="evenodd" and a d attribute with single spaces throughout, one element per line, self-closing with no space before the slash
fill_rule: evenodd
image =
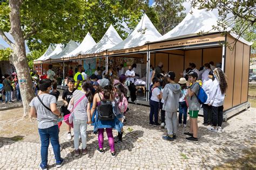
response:
<path id="1" fill-rule="evenodd" d="M 186 132 L 189 138 L 186 138 L 188 141 L 198 141 L 197 133 L 198 133 L 198 112 L 200 110 L 200 103 L 197 99 L 198 92 L 199 92 L 199 83 L 197 83 L 198 74 L 196 72 L 190 72 L 188 74 L 188 81 L 187 81 L 187 101 L 188 101 L 188 109 L 190 110 L 190 131 Z M 190 84 L 192 85 L 190 86 Z"/>

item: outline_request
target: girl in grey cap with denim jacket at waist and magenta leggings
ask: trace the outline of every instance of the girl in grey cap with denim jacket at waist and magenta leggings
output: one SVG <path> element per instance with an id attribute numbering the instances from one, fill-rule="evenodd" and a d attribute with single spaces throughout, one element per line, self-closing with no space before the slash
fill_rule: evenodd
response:
<path id="1" fill-rule="evenodd" d="M 96 107 L 100 105 L 101 101 L 113 101 L 114 100 L 114 94 L 113 94 L 113 87 L 110 84 L 110 81 L 108 79 L 102 79 L 99 82 L 99 89 L 98 93 L 95 94 L 93 97 L 93 104 L 91 109 L 91 115 L 94 114 Z M 100 154 L 104 153 L 103 150 L 103 143 L 104 143 L 104 129 L 106 129 L 107 138 L 109 139 L 109 146 L 110 146 L 110 153 L 111 156 L 114 158 L 116 157 L 116 151 L 114 150 L 114 138 L 112 129 L 116 129 L 118 132 L 121 132 L 121 129 L 123 128 L 123 124 L 114 117 L 111 121 L 103 121 L 99 119 L 98 111 L 95 113 L 96 118 L 93 121 L 94 125 L 94 132 L 98 131 L 98 143 L 99 147 L 97 148 L 97 151 Z M 93 116 L 94 117 L 94 116 Z"/>

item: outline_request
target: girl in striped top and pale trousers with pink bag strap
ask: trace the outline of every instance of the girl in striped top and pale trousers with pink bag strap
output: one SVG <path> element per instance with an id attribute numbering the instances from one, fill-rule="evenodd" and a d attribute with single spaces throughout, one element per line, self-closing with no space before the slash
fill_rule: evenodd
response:
<path id="1" fill-rule="evenodd" d="M 73 128 L 74 128 L 74 145 L 75 157 L 80 154 L 79 135 L 82 138 L 82 154 L 87 153 L 86 147 L 86 129 L 87 123 L 91 123 L 90 106 L 92 102 L 91 83 L 83 81 L 82 90 L 75 90 L 71 99 L 73 107 Z"/>

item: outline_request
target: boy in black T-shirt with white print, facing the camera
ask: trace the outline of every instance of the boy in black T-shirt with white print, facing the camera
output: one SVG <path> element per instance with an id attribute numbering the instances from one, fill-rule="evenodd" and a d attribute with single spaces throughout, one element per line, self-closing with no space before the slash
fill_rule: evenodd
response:
<path id="1" fill-rule="evenodd" d="M 71 100 L 71 98 L 73 97 L 73 93 L 76 90 L 75 89 L 75 80 L 73 78 L 69 78 L 68 79 L 68 89 L 66 89 L 63 94 L 62 94 L 62 100 L 65 103 L 64 107 L 62 107 L 64 109 L 64 116 L 70 114 L 70 111 L 68 110 L 68 105 L 69 102 Z M 68 136 L 67 139 L 71 140 L 72 136 L 71 136 L 71 128 L 70 126 L 67 126 L 67 130 L 68 130 Z"/>

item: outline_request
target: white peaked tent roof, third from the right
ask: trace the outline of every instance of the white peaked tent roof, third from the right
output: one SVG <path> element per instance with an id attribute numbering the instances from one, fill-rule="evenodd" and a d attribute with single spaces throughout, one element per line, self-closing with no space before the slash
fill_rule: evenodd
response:
<path id="1" fill-rule="evenodd" d="M 81 54 L 95 54 L 105 51 L 120 42 L 122 42 L 122 38 L 119 36 L 117 31 L 114 29 L 112 25 L 110 25 L 109 29 L 107 29 L 106 33 L 102 37 L 102 39 L 94 45 L 91 49 Z"/>

